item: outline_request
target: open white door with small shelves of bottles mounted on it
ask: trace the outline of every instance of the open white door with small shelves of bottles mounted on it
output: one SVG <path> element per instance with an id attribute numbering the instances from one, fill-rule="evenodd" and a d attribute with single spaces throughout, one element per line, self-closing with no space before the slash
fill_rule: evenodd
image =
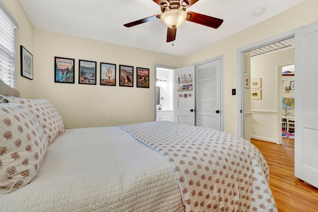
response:
<path id="1" fill-rule="evenodd" d="M 174 70 L 174 121 L 195 125 L 194 66 Z"/>

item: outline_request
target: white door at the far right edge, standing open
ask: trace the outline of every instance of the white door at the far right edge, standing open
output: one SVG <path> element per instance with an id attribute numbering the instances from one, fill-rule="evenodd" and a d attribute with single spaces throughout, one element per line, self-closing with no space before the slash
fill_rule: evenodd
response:
<path id="1" fill-rule="evenodd" d="M 295 33 L 295 176 L 318 188 L 318 22 Z"/>

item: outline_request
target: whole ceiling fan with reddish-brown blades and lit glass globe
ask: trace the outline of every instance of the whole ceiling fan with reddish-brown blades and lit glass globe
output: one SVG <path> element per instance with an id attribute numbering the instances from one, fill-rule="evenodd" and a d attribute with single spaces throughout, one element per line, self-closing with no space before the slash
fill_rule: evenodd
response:
<path id="1" fill-rule="evenodd" d="M 152 20 L 161 19 L 162 22 L 168 27 L 167 42 L 175 40 L 177 27 L 179 27 L 184 20 L 194 23 L 202 24 L 204 26 L 217 29 L 223 20 L 220 18 L 203 15 L 196 12 L 185 12 L 187 8 L 199 0 L 153 0 L 160 7 L 162 14 L 153 15 L 137 21 L 124 24 L 126 27 L 136 26 L 141 23 L 146 23 Z"/>

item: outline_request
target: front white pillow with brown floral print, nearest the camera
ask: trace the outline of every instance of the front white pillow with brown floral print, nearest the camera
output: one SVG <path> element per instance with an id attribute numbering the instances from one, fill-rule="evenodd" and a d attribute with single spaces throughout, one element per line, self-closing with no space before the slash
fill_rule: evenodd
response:
<path id="1" fill-rule="evenodd" d="M 47 146 L 42 127 L 28 108 L 0 104 L 0 193 L 15 191 L 35 177 Z"/>

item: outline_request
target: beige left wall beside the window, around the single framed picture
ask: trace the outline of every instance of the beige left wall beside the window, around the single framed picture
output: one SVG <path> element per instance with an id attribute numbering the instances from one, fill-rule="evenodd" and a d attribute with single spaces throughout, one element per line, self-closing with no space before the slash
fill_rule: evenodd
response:
<path id="1" fill-rule="evenodd" d="M 19 29 L 16 30 L 16 71 L 17 71 L 17 89 L 25 98 L 34 97 L 34 80 L 21 76 L 20 70 L 20 45 L 27 49 L 33 57 L 34 55 L 34 27 L 26 16 L 20 3 L 17 0 L 2 0 L 5 6 L 19 23 Z"/>

